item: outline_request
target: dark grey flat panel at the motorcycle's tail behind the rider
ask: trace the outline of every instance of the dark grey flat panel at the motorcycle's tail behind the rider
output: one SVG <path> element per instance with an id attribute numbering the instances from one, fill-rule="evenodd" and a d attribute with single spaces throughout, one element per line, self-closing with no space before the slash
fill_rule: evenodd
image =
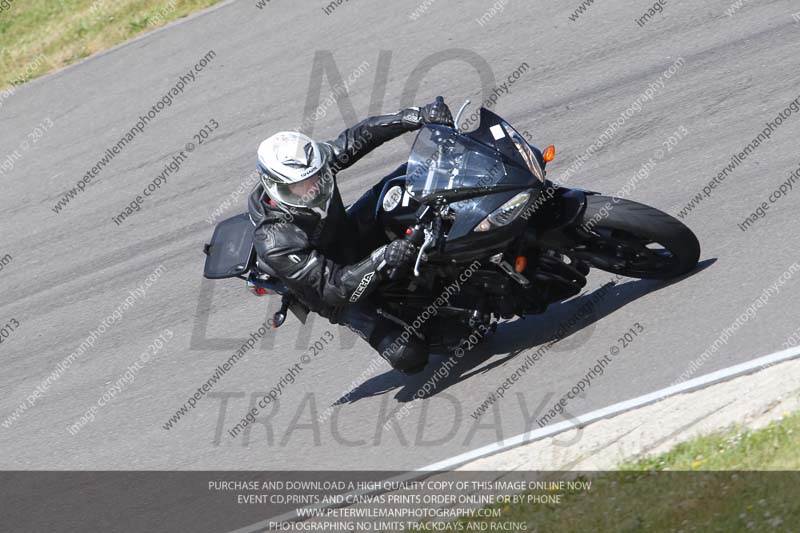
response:
<path id="1" fill-rule="evenodd" d="M 247 214 L 217 224 L 211 243 L 206 246 L 203 275 L 208 279 L 225 279 L 243 275 L 250 270 L 256 258 L 254 230 Z"/>

